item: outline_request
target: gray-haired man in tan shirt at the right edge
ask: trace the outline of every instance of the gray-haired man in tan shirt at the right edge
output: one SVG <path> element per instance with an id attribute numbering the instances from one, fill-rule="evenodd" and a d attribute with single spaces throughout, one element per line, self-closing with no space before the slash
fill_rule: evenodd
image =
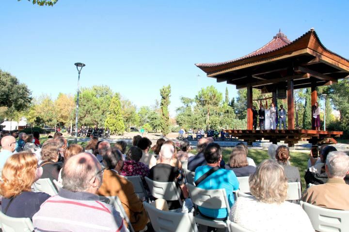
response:
<path id="1" fill-rule="evenodd" d="M 345 152 L 330 152 L 325 164 L 328 181 L 314 185 L 303 194 L 302 201 L 320 207 L 349 210 L 349 185 L 344 181 L 349 174 L 349 156 Z"/>

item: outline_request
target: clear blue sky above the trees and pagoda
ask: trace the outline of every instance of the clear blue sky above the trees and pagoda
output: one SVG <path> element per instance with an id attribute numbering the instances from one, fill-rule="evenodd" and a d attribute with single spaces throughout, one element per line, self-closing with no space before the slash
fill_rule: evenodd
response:
<path id="1" fill-rule="evenodd" d="M 55 99 L 81 86 L 108 85 L 138 107 L 171 85 L 171 116 L 180 96 L 225 83 L 195 63 L 244 56 L 279 28 L 290 40 L 315 28 L 321 42 L 349 58 L 348 0 L 59 0 L 53 7 L 1 0 L 0 69 Z M 200 75 L 198 77 L 197 75 Z M 236 97 L 228 86 L 230 99 Z"/>

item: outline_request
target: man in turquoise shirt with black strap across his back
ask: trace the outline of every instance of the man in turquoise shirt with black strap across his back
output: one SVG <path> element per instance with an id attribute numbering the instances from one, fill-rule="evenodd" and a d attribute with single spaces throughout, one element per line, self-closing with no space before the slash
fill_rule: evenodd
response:
<path id="1" fill-rule="evenodd" d="M 212 168 L 214 168 L 216 171 L 208 175 L 200 183 L 196 182 L 197 187 L 204 189 L 224 188 L 229 206 L 231 207 L 234 204 L 233 191 L 238 190 L 239 183 L 233 171 L 220 168 L 220 163 L 222 160 L 221 146 L 216 143 L 208 144 L 204 150 L 204 156 L 206 165 L 196 168 L 194 180 L 197 181 L 202 175 L 206 174 Z M 228 216 L 226 209 L 208 209 L 204 207 L 198 207 L 198 209 L 202 216 L 208 218 L 224 220 Z"/>

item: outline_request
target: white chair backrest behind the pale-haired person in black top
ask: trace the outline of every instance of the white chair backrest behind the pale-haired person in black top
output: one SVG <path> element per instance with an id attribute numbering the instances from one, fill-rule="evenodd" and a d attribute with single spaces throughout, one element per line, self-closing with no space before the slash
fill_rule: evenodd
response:
<path id="1" fill-rule="evenodd" d="M 145 177 L 145 181 L 153 197 L 166 201 L 178 200 L 180 205 L 182 205 L 180 192 L 174 182 L 159 182 L 149 179 L 148 177 Z"/>

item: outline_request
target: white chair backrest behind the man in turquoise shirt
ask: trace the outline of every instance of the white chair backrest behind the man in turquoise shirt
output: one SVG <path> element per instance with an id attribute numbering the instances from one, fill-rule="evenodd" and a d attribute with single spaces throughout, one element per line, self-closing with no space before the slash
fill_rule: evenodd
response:
<path id="1" fill-rule="evenodd" d="M 203 189 L 187 183 L 190 198 L 193 204 L 209 209 L 226 208 L 230 212 L 228 198 L 224 188 L 220 189 Z"/>

